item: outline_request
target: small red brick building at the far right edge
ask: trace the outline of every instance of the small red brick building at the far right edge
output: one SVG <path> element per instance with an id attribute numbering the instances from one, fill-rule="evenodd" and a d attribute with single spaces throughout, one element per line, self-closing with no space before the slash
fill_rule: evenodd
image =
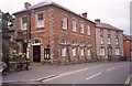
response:
<path id="1" fill-rule="evenodd" d="M 123 49 L 124 56 L 127 57 L 127 60 L 130 60 L 130 57 L 132 56 L 132 42 L 130 35 L 123 34 Z"/>

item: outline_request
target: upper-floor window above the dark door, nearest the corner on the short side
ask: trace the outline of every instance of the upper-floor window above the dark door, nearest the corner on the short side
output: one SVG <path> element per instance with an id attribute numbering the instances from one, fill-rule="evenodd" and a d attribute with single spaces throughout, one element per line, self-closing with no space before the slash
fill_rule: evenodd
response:
<path id="1" fill-rule="evenodd" d="M 43 12 L 36 13 L 36 28 L 44 26 L 44 15 Z"/>

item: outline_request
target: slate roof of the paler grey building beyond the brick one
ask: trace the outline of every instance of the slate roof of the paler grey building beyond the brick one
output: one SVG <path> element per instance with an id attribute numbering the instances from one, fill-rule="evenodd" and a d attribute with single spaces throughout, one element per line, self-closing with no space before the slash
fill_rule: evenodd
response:
<path id="1" fill-rule="evenodd" d="M 102 29 L 110 29 L 110 30 L 114 30 L 114 31 L 122 31 L 123 32 L 123 30 L 120 30 L 120 29 L 118 29 L 118 28 L 116 28 L 116 26 L 112 26 L 112 25 L 110 25 L 110 24 L 108 24 L 108 23 L 96 23 L 96 26 L 97 28 L 102 28 Z"/>

